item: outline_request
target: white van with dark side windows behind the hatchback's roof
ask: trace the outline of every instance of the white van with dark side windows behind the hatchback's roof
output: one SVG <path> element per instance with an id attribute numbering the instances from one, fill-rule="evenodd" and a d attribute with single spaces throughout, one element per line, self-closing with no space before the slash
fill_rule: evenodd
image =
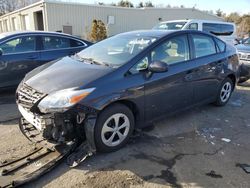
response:
<path id="1" fill-rule="evenodd" d="M 235 45 L 236 42 L 236 26 L 231 22 L 213 21 L 213 20 L 172 20 L 160 22 L 153 29 L 160 30 L 199 30 L 212 33 L 220 37 L 225 42 Z"/>

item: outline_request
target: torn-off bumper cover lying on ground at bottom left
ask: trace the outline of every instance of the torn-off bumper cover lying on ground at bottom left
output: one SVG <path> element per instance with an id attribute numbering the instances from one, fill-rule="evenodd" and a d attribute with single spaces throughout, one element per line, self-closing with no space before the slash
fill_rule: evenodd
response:
<path id="1" fill-rule="evenodd" d="M 38 147 L 19 159 L 2 162 L 0 187 L 16 187 L 38 178 L 59 164 L 75 147 L 75 144 L 60 145 L 55 151 Z"/>

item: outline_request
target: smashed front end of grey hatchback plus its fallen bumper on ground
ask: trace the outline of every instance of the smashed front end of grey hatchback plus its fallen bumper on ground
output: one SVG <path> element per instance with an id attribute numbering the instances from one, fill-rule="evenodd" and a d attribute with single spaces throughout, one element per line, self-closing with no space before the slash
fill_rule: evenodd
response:
<path id="1" fill-rule="evenodd" d="M 77 166 L 95 153 L 95 110 L 77 104 L 62 113 L 42 113 L 38 104 L 46 96 L 24 83 L 19 85 L 19 127 L 34 147 L 24 156 L 0 162 L 0 187 L 30 182 L 66 157 L 70 166 Z"/>

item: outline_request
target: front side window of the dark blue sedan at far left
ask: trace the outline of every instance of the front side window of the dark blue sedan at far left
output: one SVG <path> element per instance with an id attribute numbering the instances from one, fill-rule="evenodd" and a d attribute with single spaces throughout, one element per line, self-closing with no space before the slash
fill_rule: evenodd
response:
<path id="1" fill-rule="evenodd" d="M 0 45 L 3 54 L 32 52 L 36 49 L 35 36 L 19 37 Z"/>

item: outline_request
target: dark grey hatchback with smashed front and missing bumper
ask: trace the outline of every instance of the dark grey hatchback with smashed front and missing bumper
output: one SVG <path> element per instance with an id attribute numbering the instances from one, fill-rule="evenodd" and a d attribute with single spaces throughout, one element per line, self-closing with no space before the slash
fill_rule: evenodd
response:
<path id="1" fill-rule="evenodd" d="M 135 127 L 199 104 L 225 105 L 238 67 L 236 49 L 208 33 L 122 33 L 28 73 L 17 89 L 20 127 L 56 144 L 87 139 L 114 151 Z"/>

